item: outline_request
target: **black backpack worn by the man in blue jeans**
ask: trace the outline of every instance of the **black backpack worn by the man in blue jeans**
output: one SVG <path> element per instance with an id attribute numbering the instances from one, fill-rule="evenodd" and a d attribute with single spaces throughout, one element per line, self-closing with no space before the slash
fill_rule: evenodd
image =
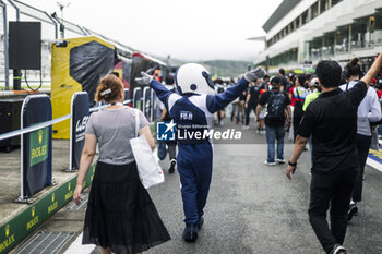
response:
<path id="1" fill-rule="evenodd" d="M 286 97 L 282 92 L 272 92 L 267 102 L 266 120 L 285 121 L 285 104 Z"/>

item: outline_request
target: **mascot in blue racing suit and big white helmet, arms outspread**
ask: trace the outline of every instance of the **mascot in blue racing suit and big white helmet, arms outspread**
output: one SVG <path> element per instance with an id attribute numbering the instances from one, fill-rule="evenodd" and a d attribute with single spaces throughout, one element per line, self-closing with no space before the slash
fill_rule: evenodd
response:
<path id="1" fill-rule="evenodd" d="M 188 133 L 186 138 L 178 136 L 177 157 L 186 222 L 182 238 L 187 242 L 198 239 L 199 229 L 204 222 L 203 208 L 213 167 L 213 149 L 208 137 L 198 133 L 208 131 L 214 112 L 235 100 L 250 82 L 264 74 L 261 68 L 247 72 L 237 85 L 216 95 L 210 73 L 196 63 L 187 63 L 178 69 L 175 76 L 178 93 L 169 92 L 144 72 L 143 77 L 138 78 L 143 84 L 150 84 L 165 104 L 177 124 L 178 133 Z"/>

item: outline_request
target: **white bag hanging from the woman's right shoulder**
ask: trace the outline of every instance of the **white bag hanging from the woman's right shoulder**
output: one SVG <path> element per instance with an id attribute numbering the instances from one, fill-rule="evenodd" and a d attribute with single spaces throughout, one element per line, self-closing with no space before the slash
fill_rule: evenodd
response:
<path id="1" fill-rule="evenodd" d="M 140 111 L 135 109 L 135 137 L 130 140 L 130 145 L 135 158 L 141 182 L 145 189 L 148 189 L 163 183 L 165 181 L 165 174 L 158 164 L 158 159 L 154 156 L 148 145 L 146 136 L 139 136 L 139 112 Z"/>

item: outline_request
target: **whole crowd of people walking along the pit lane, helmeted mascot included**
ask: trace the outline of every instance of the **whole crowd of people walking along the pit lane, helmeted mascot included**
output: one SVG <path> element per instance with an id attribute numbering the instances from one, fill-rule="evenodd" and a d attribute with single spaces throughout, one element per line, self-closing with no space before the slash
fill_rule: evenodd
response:
<path id="1" fill-rule="evenodd" d="M 382 95 L 380 55 L 367 73 L 359 59 L 344 69 L 335 61 L 323 60 L 311 74 L 286 75 L 283 69 L 272 78 L 258 68 L 248 71 L 235 84 L 224 87 L 213 83 L 210 73 L 200 64 L 179 68 L 167 88 L 153 76 L 142 72 L 139 78 L 150 85 L 164 104 L 162 120 L 174 120 L 188 132 L 199 132 L 224 124 L 225 107 L 231 107 L 231 121 L 249 129 L 250 114 L 255 113 L 256 132 L 265 134 L 267 159 L 274 166 L 286 164 L 284 140 L 286 131 L 295 143 L 286 176 L 295 173 L 297 161 L 309 143 L 311 153 L 311 186 L 309 221 L 330 254 L 346 253 L 342 246 L 348 220 L 358 213 L 361 201 L 362 174 L 371 136 L 381 120 Z M 373 78 L 381 83 L 379 92 L 370 87 Z M 344 84 L 343 86 L 341 86 Z M 339 87 L 341 86 L 341 87 Z M 154 148 L 148 122 L 122 105 L 123 84 L 108 75 L 98 86 L 96 99 L 108 107 L 93 113 L 86 126 L 85 145 L 73 194 L 81 203 L 84 178 L 94 158 L 96 144 L 99 156 L 86 210 L 83 243 L 94 243 L 102 253 L 141 253 L 170 239 L 166 227 L 140 182 L 138 167 L 129 144 L 134 133 L 144 135 Z M 198 126 L 194 129 L 193 126 Z M 275 148 L 277 144 L 277 148 Z M 213 171 L 213 147 L 207 137 L 167 144 L 170 152 L 169 172 L 179 172 L 184 211 L 182 239 L 195 242 L 204 223 Z M 326 221 L 330 209 L 331 227 Z M 118 219 L 116 219 L 118 218 Z M 122 222 L 121 222 L 122 221 Z"/>

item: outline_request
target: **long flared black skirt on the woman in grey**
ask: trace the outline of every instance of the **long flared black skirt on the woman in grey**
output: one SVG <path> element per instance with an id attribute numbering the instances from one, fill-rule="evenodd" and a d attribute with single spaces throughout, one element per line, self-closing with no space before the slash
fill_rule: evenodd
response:
<path id="1" fill-rule="evenodd" d="M 135 162 L 97 162 L 88 197 L 83 244 L 110 247 L 116 254 L 140 253 L 170 240 Z"/>

